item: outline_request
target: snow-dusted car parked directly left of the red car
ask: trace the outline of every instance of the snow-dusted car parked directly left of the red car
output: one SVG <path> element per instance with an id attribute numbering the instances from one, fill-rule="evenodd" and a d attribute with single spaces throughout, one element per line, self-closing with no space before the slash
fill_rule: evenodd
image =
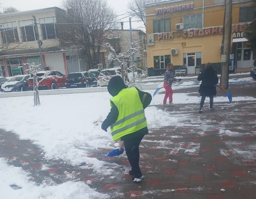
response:
<path id="1" fill-rule="evenodd" d="M 16 75 L 4 82 L 1 86 L 2 92 L 14 92 L 14 91 L 22 91 L 22 87 L 28 86 L 28 78 L 30 75 Z"/>

